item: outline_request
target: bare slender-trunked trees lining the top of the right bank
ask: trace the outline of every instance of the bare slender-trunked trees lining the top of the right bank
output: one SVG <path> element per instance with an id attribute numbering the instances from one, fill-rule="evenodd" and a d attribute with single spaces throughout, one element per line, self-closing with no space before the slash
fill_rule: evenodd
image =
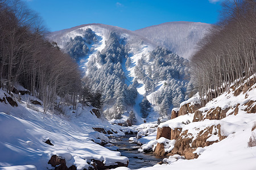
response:
<path id="1" fill-rule="evenodd" d="M 222 3 L 220 22 L 209 30 L 191 58 L 192 78 L 202 101 L 217 97 L 244 79 L 256 82 L 256 2 Z M 206 98 L 204 98 L 204 96 Z"/>

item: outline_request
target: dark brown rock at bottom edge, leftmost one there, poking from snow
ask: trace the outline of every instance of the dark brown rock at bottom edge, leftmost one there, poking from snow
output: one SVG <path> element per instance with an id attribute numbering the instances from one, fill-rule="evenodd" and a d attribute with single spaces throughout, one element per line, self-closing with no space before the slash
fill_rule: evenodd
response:
<path id="1" fill-rule="evenodd" d="M 52 155 L 48 164 L 51 164 L 52 167 L 55 167 L 56 170 L 76 170 L 75 165 L 72 165 L 68 168 L 66 165 L 66 160 L 57 155 Z"/>

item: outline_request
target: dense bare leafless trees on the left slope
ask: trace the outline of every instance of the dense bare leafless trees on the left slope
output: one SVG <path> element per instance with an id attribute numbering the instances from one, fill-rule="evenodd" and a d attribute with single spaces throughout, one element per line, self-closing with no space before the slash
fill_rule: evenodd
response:
<path id="1" fill-rule="evenodd" d="M 0 0 L 0 88 L 11 94 L 21 84 L 43 101 L 44 112 L 60 104 L 76 107 L 93 92 L 82 88 L 74 59 L 47 41 L 42 23 L 22 1 Z"/>

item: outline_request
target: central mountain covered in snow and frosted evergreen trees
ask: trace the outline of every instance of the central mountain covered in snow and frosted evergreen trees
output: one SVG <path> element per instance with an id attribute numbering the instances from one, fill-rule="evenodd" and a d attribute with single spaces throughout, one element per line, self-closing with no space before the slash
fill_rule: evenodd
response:
<path id="1" fill-rule="evenodd" d="M 136 32 L 86 24 L 52 32 L 48 39 L 76 59 L 85 85 L 102 93 L 110 119 L 131 111 L 138 120 L 166 116 L 188 98 L 188 61 Z"/>

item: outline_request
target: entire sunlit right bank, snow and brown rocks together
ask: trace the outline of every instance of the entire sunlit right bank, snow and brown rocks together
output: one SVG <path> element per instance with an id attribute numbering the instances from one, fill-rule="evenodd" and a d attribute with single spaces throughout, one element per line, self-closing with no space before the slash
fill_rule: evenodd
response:
<path id="1" fill-rule="evenodd" d="M 140 131 L 142 138 L 131 139 L 144 144 L 139 151 L 169 156 L 145 169 L 255 169 L 256 84 L 250 80 L 204 107 L 197 94 L 173 109 L 157 131 Z"/>

